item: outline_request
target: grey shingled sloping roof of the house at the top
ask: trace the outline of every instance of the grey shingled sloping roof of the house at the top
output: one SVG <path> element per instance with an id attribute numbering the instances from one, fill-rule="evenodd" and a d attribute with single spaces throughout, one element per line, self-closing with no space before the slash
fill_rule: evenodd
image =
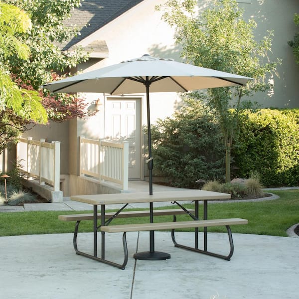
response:
<path id="1" fill-rule="evenodd" d="M 65 25 L 76 25 L 80 34 L 67 43 L 61 45 L 62 51 L 69 50 L 79 41 L 108 24 L 127 10 L 131 9 L 143 0 L 85 0 L 81 6 L 75 8 L 72 16 L 65 21 Z M 105 50 L 103 41 L 99 43 Z M 106 45 L 107 47 L 107 45 Z M 108 47 L 107 47 L 108 52 Z"/>

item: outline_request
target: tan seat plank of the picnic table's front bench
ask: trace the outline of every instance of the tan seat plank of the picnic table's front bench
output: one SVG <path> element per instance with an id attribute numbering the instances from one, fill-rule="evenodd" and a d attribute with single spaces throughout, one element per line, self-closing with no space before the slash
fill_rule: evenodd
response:
<path id="1" fill-rule="evenodd" d="M 241 218 L 208 219 L 208 220 L 195 220 L 195 221 L 107 225 L 107 226 L 102 226 L 101 231 L 107 233 L 120 233 L 120 232 L 150 231 L 150 230 L 164 230 L 164 229 L 177 229 L 177 228 L 227 226 L 227 225 L 247 224 L 247 223 L 248 220 L 241 219 Z"/>

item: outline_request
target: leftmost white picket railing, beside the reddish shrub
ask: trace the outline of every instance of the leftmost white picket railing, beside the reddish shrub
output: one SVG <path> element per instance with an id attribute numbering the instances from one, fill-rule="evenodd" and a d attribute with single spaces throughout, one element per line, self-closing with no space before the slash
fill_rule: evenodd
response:
<path id="1" fill-rule="evenodd" d="M 29 178 L 39 179 L 40 184 L 47 183 L 59 191 L 60 182 L 60 142 L 46 143 L 20 138 L 16 147 L 17 161 L 21 171 Z"/>

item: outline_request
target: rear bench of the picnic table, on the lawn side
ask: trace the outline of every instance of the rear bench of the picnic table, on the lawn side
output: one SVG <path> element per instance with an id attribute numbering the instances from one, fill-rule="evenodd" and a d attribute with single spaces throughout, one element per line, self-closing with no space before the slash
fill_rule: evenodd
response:
<path id="1" fill-rule="evenodd" d="M 167 215 L 191 215 L 194 213 L 193 209 L 161 209 L 161 210 L 153 210 L 154 216 L 167 216 Z M 108 225 L 113 219 L 115 218 L 129 218 L 129 217 L 149 217 L 149 210 L 140 210 L 140 211 L 122 211 L 120 213 L 118 212 L 108 212 L 105 213 L 105 225 Z M 73 237 L 73 246 L 75 249 L 76 254 L 81 254 L 81 252 L 78 250 L 77 245 L 77 236 L 78 236 L 78 230 L 79 225 L 81 221 L 86 220 L 93 220 L 94 214 L 91 213 L 85 213 L 85 214 L 68 214 L 68 215 L 59 215 L 58 219 L 61 221 L 76 221 L 75 224 L 75 230 L 74 230 L 74 237 Z M 97 219 L 102 219 L 101 213 L 97 214 Z M 174 218 L 175 219 L 175 218 Z M 99 226 L 101 227 L 101 226 Z M 98 227 L 98 229 L 99 229 Z M 127 243 L 127 242 L 126 242 Z M 127 245 L 126 245 L 127 246 Z"/>

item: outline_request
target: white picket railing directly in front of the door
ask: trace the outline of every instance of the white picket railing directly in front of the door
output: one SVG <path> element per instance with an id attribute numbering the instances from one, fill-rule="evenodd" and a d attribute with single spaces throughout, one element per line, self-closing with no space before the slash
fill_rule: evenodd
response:
<path id="1" fill-rule="evenodd" d="M 128 190 L 129 143 L 115 144 L 80 136 L 80 175 L 121 184 Z"/>

